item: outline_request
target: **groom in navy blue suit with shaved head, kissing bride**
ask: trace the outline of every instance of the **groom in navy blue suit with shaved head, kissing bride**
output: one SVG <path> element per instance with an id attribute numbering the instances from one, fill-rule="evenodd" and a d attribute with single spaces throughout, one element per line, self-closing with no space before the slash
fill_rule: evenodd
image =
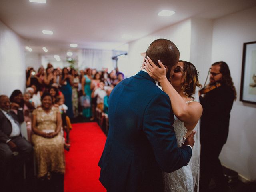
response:
<path id="1" fill-rule="evenodd" d="M 169 79 L 179 60 L 178 48 L 158 39 L 146 52 L 166 67 Z M 170 98 L 146 72 L 120 82 L 109 97 L 109 132 L 100 158 L 100 182 L 108 192 L 161 192 L 163 172 L 186 166 L 193 137 L 177 147 Z M 189 146 L 188 146 L 189 145 Z"/>

